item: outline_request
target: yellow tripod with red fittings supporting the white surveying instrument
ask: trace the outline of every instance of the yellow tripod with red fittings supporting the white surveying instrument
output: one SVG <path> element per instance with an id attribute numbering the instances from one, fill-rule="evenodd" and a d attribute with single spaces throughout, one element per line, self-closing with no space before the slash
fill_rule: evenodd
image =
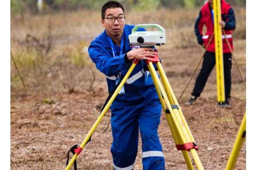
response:
<path id="1" fill-rule="evenodd" d="M 69 170 L 73 162 L 76 160 L 77 156 L 81 153 L 83 147 L 86 145 L 86 143 L 89 141 L 91 135 L 93 134 L 93 131 L 96 129 L 96 126 L 100 122 L 100 120 L 103 118 L 103 116 L 106 114 L 106 111 L 112 104 L 113 100 L 118 95 L 118 92 L 120 91 L 121 87 L 124 85 L 126 80 L 128 79 L 129 75 L 132 73 L 132 70 L 134 70 L 135 66 L 138 64 L 139 60 L 134 60 L 132 63 L 132 66 L 122 79 L 120 81 L 120 84 L 116 88 L 116 91 L 114 91 L 112 97 L 110 97 L 110 100 L 108 100 L 105 107 L 102 109 L 102 112 L 100 113 L 100 116 L 96 120 L 93 127 L 90 129 L 89 133 L 85 137 L 84 141 L 81 143 L 80 146 L 75 149 L 75 155 L 71 159 L 71 161 L 67 164 L 65 170 Z M 195 140 L 191 134 L 191 131 L 187 125 L 187 122 L 183 116 L 183 113 L 181 111 L 181 108 L 177 102 L 177 99 L 173 93 L 173 90 L 171 89 L 171 85 L 168 82 L 168 79 L 163 71 L 163 68 L 160 63 L 160 59 L 158 55 L 155 56 L 153 61 L 145 61 L 148 64 L 148 68 L 150 70 L 150 73 L 152 75 L 154 84 L 156 86 L 156 90 L 158 93 L 158 96 L 161 101 L 161 105 L 163 106 L 163 110 L 165 112 L 165 116 L 167 118 L 167 122 L 169 124 L 169 127 L 171 129 L 171 132 L 173 134 L 176 147 L 179 151 L 182 151 L 182 154 L 185 158 L 185 162 L 187 164 L 188 170 L 193 170 L 192 162 L 189 158 L 189 152 L 191 152 L 191 155 L 193 156 L 194 162 L 199 170 L 203 170 L 203 165 L 201 164 L 201 161 L 199 159 L 199 156 L 197 155 L 196 150 L 198 150 L 197 144 L 195 143 Z M 160 77 L 162 79 L 163 85 L 160 82 L 160 79 L 158 78 L 158 74 L 156 73 L 156 70 L 153 66 L 153 63 L 157 65 L 157 68 L 160 73 Z M 164 86 L 164 87 L 163 87 Z M 164 90 L 165 89 L 165 90 Z M 166 91 L 166 92 L 165 92 Z M 166 104 L 166 105 L 165 105 Z"/>

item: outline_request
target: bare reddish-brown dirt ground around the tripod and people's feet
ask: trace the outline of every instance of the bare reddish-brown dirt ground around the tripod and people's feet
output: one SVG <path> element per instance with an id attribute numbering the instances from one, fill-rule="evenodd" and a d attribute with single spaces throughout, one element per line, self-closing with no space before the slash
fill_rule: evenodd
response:
<path id="1" fill-rule="evenodd" d="M 236 41 L 236 60 L 246 75 L 245 41 Z M 162 65 L 171 87 L 179 97 L 203 54 L 200 46 L 159 48 Z M 198 73 L 198 71 L 197 71 Z M 104 75 L 96 71 L 98 86 L 91 91 L 74 89 L 59 93 L 14 93 L 11 89 L 11 169 L 65 169 L 67 152 L 80 145 L 99 116 L 108 93 Z M 68 80 L 67 80 L 68 81 Z M 193 106 L 189 99 L 195 77 L 179 102 L 190 130 L 199 146 L 199 158 L 206 170 L 226 167 L 234 140 L 246 110 L 246 90 L 236 65 L 232 66 L 232 109 L 217 107 L 215 71 Z M 177 151 L 164 113 L 159 136 L 163 145 L 166 170 L 187 169 L 181 151 Z M 77 157 L 79 170 L 112 170 L 110 112 L 102 118 L 89 142 Z M 72 154 L 70 155 L 70 158 Z M 193 159 L 191 157 L 191 159 Z M 142 170 L 141 143 L 134 170 Z M 195 164 L 193 163 L 195 166 Z M 73 166 L 72 168 L 73 169 Z M 197 169 L 195 167 L 195 169 Z M 246 169 L 246 140 L 240 150 L 236 170 Z"/>

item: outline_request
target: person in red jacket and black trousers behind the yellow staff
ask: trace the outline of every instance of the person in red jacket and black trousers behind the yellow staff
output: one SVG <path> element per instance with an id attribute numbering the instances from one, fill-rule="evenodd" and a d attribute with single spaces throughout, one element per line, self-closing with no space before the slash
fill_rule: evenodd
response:
<path id="1" fill-rule="evenodd" d="M 207 27 L 205 35 L 203 35 L 203 26 Z M 233 39 L 231 31 L 236 27 L 236 19 L 232 7 L 221 0 L 221 21 L 219 22 L 226 33 L 226 38 L 233 50 Z M 210 41 L 211 35 L 214 33 L 214 17 L 213 17 L 213 0 L 209 0 L 201 8 L 199 16 L 195 22 L 195 35 L 197 36 L 197 41 L 199 44 L 206 48 Z M 224 33 L 222 35 L 223 39 L 223 64 L 224 64 L 224 87 L 225 87 L 225 102 L 218 106 L 230 106 L 230 91 L 231 91 L 231 67 L 232 67 L 232 54 L 226 43 Z M 207 79 L 215 66 L 215 41 L 214 37 L 210 42 L 208 48 L 206 49 L 202 68 L 199 75 L 197 76 L 195 87 L 191 93 L 191 98 L 185 103 L 187 105 L 192 105 L 195 103 L 197 97 L 200 96 L 203 91 Z"/>

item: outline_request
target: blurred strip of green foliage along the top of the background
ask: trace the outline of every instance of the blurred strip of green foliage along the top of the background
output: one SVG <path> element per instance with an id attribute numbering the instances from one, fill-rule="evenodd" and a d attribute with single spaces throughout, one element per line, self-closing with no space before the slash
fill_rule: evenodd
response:
<path id="1" fill-rule="evenodd" d="M 79 9 L 100 10 L 107 0 L 41 0 L 43 12 L 73 11 Z M 117 0 L 126 10 L 157 10 L 165 9 L 194 9 L 202 6 L 207 0 Z M 39 13 L 37 8 L 39 0 L 11 0 L 11 14 Z M 231 6 L 246 6 L 246 0 L 228 0 Z"/>

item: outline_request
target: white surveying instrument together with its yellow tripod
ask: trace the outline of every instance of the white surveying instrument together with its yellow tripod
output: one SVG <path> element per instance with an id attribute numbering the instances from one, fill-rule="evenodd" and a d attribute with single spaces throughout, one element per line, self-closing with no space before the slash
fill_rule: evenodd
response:
<path id="1" fill-rule="evenodd" d="M 139 28 L 155 28 L 155 29 L 158 29 L 158 31 L 137 31 Z M 165 30 L 163 29 L 163 27 L 161 27 L 158 24 L 136 25 L 132 29 L 132 34 L 129 35 L 129 41 L 131 46 L 137 46 L 138 48 L 139 47 L 152 48 L 156 45 L 161 46 L 162 44 L 166 44 Z M 157 52 L 157 50 L 155 51 Z M 187 125 L 185 117 L 183 116 L 181 108 L 173 93 L 171 85 L 168 82 L 168 79 L 167 79 L 167 76 L 165 75 L 163 67 L 161 66 L 160 58 L 158 54 L 156 54 L 155 57 L 152 59 L 153 61 L 145 60 L 145 62 L 149 68 L 152 79 L 154 81 L 154 85 L 156 87 L 158 97 L 163 107 L 163 111 L 167 118 L 169 128 L 171 129 L 171 133 L 173 135 L 177 150 L 182 152 L 188 170 L 194 170 L 191 159 L 189 157 L 189 151 L 193 156 L 193 160 L 195 162 L 194 164 L 196 164 L 197 169 L 204 170 L 203 165 L 201 164 L 201 161 L 199 159 L 199 156 L 197 155 L 198 146 L 195 142 L 195 139 L 192 136 L 189 126 Z M 80 146 L 75 145 L 75 147 L 73 148 L 74 156 L 70 162 L 67 161 L 67 166 L 65 170 L 69 170 L 73 162 L 76 160 L 77 156 L 81 153 L 83 147 L 91 140 L 91 135 L 93 134 L 93 131 L 95 130 L 96 126 L 98 125 L 100 120 L 103 118 L 103 116 L 106 114 L 108 108 L 110 107 L 110 105 L 112 104 L 116 96 L 118 95 L 118 92 L 120 91 L 120 89 L 122 88 L 126 80 L 128 79 L 129 75 L 132 73 L 132 70 L 134 70 L 138 62 L 140 62 L 140 60 L 134 60 L 132 62 L 132 65 L 130 66 L 126 75 L 124 75 L 123 79 L 120 80 L 119 83 L 116 85 L 116 88 L 114 89 L 113 93 L 110 93 L 110 96 L 108 96 L 108 99 L 106 100 L 100 112 L 99 117 L 97 118 L 93 127 L 91 127 L 84 141 L 81 143 Z M 156 64 L 158 68 L 162 83 L 160 81 L 160 78 L 158 77 L 158 74 L 153 64 Z"/>

